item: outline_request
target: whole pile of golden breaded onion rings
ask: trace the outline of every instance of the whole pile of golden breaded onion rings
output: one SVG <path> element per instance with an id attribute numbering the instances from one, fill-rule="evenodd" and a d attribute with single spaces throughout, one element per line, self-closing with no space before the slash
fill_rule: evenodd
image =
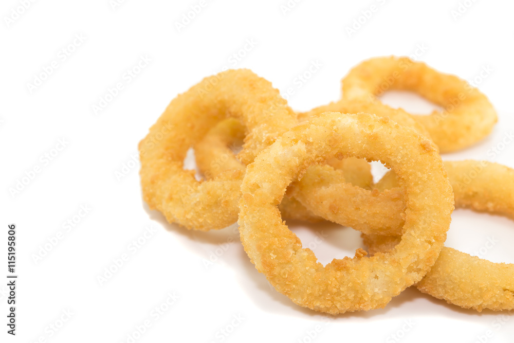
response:
<path id="1" fill-rule="evenodd" d="M 488 99 L 408 58 L 364 61 L 342 84 L 340 101 L 297 114 L 249 70 L 204 79 L 175 98 L 139 144 L 144 200 L 189 229 L 220 229 L 238 216 L 256 268 L 310 309 L 381 308 L 413 284 L 463 308 L 514 309 L 514 265 L 443 246 L 453 202 L 514 219 L 514 170 L 443 164 L 438 155 L 491 132 L 497 115 Z M 392 109 L 377 98 L 388 89 L 414 91 L 444 110 Z M 183 170 L 192 147 L 204 180 Z M 366 159 L 392 171 L 373 184 Z M 358 249 L 323 266 L 281 216 L 351 226 L 373 256 Z"/>

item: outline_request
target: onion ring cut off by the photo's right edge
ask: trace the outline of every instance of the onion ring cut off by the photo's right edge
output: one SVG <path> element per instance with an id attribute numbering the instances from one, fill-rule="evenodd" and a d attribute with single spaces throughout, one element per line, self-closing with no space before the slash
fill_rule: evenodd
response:
<path id="1" fill-rule="evenodd" d="M 455 194 L 455 207 L 500 213 L 514 219 L 513 169 L 473 160 L 445 161 L 444 165 Z M 379 187 L 394 185 L 395 178 L 392 172 L 386 174 Z M 388 251 L 399 242 L 396 236 L 362 236 L 372 254 Z M 493 263 L 443 247 L 430 272 L 416 287 L 466 309 L 513 310 L 514 264 Z"/>

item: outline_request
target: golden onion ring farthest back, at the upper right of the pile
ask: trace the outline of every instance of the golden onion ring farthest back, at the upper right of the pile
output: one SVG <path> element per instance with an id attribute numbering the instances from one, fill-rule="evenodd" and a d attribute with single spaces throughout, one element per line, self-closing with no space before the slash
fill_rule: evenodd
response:
<path id="1" fill-rule="evenodd" d="M 461 150 L 491 133 L 498 116 L 477 88 L 423 62 L 407 57 L 372 58 L 350 70 L 342 82 L 343 100 L 370 100 L 388 89 L 413 91 L 443 107 L 432 114 L 413 115 L 442 153 Z"/>

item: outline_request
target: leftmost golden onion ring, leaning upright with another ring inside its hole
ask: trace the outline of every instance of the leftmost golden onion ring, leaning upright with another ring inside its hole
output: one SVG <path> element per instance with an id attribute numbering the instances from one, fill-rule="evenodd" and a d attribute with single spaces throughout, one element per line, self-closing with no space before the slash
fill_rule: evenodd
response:
<path id="1" fill-rule="evenodd" d="M 242 176 L 198 182 L 183 169 L 188 149 L 227 117 L 248 128 L 241 160 L 248 164 L 276 137 L 297 124 L 297 115 L 271 83 L 247 69 L 205 78 L 177 96 L 139 143 L 143 198 L 168 222 L 188 229 L 221 229 L 237 220 Z"/>

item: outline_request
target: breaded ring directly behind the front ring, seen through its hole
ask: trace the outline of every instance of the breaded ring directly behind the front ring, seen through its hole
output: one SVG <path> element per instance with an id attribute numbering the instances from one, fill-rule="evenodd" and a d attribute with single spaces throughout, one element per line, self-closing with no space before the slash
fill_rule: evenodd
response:
<path id="1" fill-rule="evenodd" d="M 319 115 L 322 110 L 338 107 L 350 112 L 365 109 L 379 117 L 390 118 L 400 125 L 428 135 L 424 127 L 406 112 L 359 100 L 321 106 L 300 115 L 300 118 L 307 120 Z M 428 143 L 427 140 L 426 144 Z M 343 226 L 350 226 L 364 233 L 402 234 L 405 220 L 402 218 L 405 194 L 398 188 L 383 192 L 362 192 L 358 187 L 345 183 L 341 173 L 329 166 L 309 168 L 303 178 L 293 183 L 290 188 L 290 194 L 306 207 L 308 212 L 318 217 Z M 398 214 L 395 215 L 395 213 Z"/>

